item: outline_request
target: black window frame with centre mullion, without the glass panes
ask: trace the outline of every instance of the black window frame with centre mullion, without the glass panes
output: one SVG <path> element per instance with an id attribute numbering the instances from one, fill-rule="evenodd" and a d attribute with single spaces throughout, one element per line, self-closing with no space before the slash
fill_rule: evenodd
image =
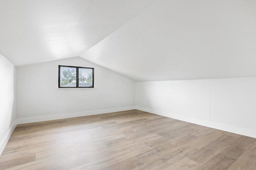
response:
<path id="1" fill-rule="evenodd" d="M 62 87 L 62 86 L 60 86 L 60 67 L 76 68 L 76 87 Z M 89 69 L 92 69 L 92 86 L 91 86 L 91 87 L 79 87 L 79 68 L 89 68 Z M 92 68 L 92 67 L 80 67 L 80 66 L 64 66 L 64 65 L 59 65 L 58 87 L 59 87 L 59 88 L 94 88 L 94 68 Z"/>

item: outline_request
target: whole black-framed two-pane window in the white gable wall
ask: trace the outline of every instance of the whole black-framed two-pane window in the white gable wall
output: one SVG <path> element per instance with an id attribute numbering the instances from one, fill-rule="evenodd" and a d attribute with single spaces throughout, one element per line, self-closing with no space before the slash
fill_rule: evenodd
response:
<path id="1" fill-rule="evenodd" d="M 94 68 L 59 65 L 59 88 L 93 87 Z"/>

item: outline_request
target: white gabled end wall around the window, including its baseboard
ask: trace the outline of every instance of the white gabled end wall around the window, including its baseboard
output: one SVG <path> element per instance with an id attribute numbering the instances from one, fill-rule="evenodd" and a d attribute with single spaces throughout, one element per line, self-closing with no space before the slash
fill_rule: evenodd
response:
<path id="1" fill-rule="evenodd" d="M 58 65 L 94 68 L 95 88 L 58 88 Z M 134 81 L 80 57 L 17 68 L 18 123 L 134 109 Z"/>

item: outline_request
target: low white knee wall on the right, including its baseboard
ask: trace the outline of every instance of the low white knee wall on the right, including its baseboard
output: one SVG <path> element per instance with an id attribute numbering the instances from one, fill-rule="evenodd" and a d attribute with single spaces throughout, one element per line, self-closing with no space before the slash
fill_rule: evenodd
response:
<path id="1" fill-rule="evenodd" d="M 136 82 L 136 108 L 256 137 L 256 78 Z"/>

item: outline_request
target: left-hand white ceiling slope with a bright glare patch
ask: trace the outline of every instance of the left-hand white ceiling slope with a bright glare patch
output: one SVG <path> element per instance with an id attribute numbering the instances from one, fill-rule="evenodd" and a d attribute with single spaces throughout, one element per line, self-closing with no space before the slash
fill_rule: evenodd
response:
<path id="1" fill-rule="evenodd" d="M 0 0 L 0 53 L 14 65 L 77 57 L 152 0 Z"/>

